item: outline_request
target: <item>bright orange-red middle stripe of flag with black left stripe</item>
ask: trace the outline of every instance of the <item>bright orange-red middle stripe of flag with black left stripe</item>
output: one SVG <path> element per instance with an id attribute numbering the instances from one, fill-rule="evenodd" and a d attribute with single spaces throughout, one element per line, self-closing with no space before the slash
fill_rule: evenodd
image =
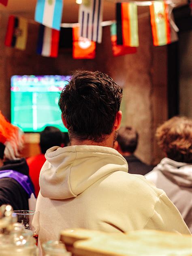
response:
<path id="1" fill-rule="evenodd" d="M 123 45 L 130 45 L 130 24 L 129 24 L 129 13 L 128 13 L 128 3 L 122 3 L 122 36 Z"/>

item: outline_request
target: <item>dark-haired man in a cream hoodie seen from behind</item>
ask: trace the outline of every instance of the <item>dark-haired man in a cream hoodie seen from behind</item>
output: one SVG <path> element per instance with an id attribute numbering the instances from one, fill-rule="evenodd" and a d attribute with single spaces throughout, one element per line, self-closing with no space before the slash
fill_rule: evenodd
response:
<path id="1" fill-rule="evenodd" d="M 107 232 L 157 229 L 190 234 L 163 190 L 128 174 L 113 149 L 121 124 L 122 89 L 108 75 L 77 71 L 60 95 L 69 147 L 47 150 L 40 173 L 40 246 L 64 228 Z"/>

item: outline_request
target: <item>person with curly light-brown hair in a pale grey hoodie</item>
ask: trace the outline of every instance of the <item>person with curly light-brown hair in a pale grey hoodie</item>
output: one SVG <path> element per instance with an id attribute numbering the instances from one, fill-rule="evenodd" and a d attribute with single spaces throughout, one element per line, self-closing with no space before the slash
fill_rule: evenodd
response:
<path id="1" fill-rule="evenodd" d="M 145 177 L 166 192 L 192 232 L 192 119 L 172 117 L 156 138 L 166 157 Z"/>

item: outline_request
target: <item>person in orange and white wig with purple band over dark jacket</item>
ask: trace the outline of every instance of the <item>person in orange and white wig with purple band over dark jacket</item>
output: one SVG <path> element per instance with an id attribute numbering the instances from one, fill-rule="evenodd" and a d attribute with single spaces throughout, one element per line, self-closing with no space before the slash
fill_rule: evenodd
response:
<path id="1" fill-rule="evenodd" d="M 9 204 L 13 210 L 34 210 L 34 186 L 26 160 L 20 158 L 23 143 L 23 132 L 0 112 L 0 205 Z"/>

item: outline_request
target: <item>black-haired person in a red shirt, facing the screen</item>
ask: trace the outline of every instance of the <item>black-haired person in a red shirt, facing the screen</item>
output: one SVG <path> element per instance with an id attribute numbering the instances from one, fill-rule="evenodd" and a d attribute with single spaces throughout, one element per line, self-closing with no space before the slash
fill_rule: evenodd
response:
<path id="1" fill-rule="evenodd" d="M 36 156 L 32 156 L 27 159 L 27 163 L 29 166 L 29 174 L 32 179 L 35 188 L 35 194 L 38 196 L 40 186 L 39 186 L 39 174 L 41 171 L 41 167 L 45 163 L 45 152 L 47 149 L 53 146 L 62 146 L 62 132 L 53 126 L 47 126 L 45 129 L 40 133 L 40 148 L 41 154 Z"/>

